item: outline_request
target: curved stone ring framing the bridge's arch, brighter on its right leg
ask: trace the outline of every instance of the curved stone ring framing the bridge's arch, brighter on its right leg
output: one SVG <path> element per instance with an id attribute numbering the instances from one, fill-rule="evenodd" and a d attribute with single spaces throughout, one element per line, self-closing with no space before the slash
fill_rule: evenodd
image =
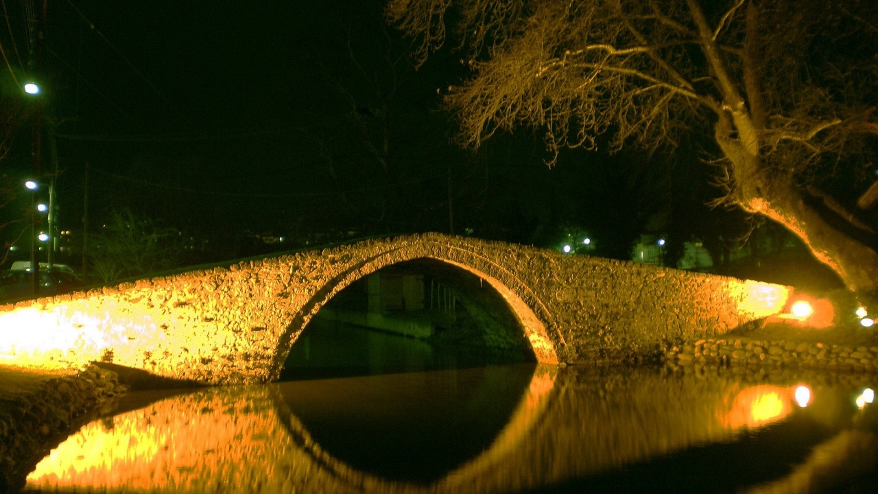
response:
<path id="1" fill-rule="evenodd" d="M 391 248 L 370 258 L 360 260 L 346 266 L 334 277 L 325 280 L 319 287 L 315 287 L 313 296 L 292 317 L 277 340 L 277 347 L 272 359 L 272 374 L 280 375 L 292 345 L 295 344 L 313 316 L 335 294 L 385 267 L 418 259 L 430 259 L 454 266 L 489 284 L 506 301 L 507 308 L 523 329 L 524 336 L 528 339 L 530 347 L 536 355 L 536 360 L 543 364 L 558 364 L 556 348 L 559 343 L 563 345 L 563 337 L 556 332 L 557 338 L 553 341 L 549 331 L 546 331 L 546 324 L 543 321 L 550 320 L 551 315 L 548 309 L 539 303 L 539 299 L 530 287 L 514 273 L 508 272 L 489 258 L 479 256 L 478 253 L 450 248 L 450 246 L 441 243 L 422 242 Z M 530 300 L 525 301 L 519 294 L 525 294 L 524 296 L 530 294 Z M 535 301 L 536 303 L 534 303 Z"/>

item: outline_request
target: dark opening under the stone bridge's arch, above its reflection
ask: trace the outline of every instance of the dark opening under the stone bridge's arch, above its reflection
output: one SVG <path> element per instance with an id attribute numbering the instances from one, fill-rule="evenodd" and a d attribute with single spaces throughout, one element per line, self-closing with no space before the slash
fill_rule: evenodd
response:
<path id="1" fill-rule="evenodd" d="M 461 265 L 435 258 L 386 265 L 320 306 L 291 345 L 280 380 L 536 362 L 526 321 L 507 300 Z"/>

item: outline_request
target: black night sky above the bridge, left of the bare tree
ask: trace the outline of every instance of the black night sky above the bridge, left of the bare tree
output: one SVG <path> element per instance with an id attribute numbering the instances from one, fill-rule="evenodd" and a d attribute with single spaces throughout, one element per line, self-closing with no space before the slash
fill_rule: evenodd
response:
<path id="1" fill-rule="evenodd" d="M 630 239 L 648 230 L 682 238 L 691 232 L 680 225 L 715 236 L 744 228 L 738 215 L 702 206 L 713 192 L 685 147 L 674 156 L 571 151 L 551 170 L 529 129 L 478 153 L 459 149 L 440 92 L 464 76 L 460 55 L 446 50 L 414 70 L 383 5 L 49 3 L 40 72 L 61 229 L 81 236 L 86 165 L 90 225 L 128 208 L 210 243 L 193 262 L 452 229 L 541 246 L 576 231 L 625 257 Z M 21 6 L 7 7 L 11 36 L 0 40 L 7 52 L 14 40 L 26 65 Z M 4 100 L 22 98 L 10 69 L 2 77 Z M 0 162 L 9 177 L 31 171 L 30 125 Z M 0 236 L 9 242 L 13 230 Z"/>

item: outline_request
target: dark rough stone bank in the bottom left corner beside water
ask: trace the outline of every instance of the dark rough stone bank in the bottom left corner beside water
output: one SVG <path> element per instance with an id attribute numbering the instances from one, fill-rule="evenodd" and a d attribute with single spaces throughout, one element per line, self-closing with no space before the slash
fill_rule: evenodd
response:
<path id="1" fill-rule="evenodd" d="M 24 488 L 27 473 L 65 434 L 127 390 L 116 373 L 91 366 L 0 396 L 0 492 Z"/>

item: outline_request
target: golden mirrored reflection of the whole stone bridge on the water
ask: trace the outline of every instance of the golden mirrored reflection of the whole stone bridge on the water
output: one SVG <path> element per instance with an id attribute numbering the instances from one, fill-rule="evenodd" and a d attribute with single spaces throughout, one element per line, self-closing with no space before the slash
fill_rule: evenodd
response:
<path id="1" fill-rule="evenodd" d="M 86 425 L 41 461 L 28 482 L 51 491 L 107 492 L 536 490 L 735 440 L 790 414 L 819 420 L 838 413 L 825 396 L 823 404 L 817 399 L 801 410 L 793 389 L 746 389 L 737 378 L 668 377 L 651 369 L 536 367 L 492 446 L 428 484 L 382 478 L 336 459 L 291 412 L 277 385 L 207 389 Z M 796 475 L 807 468 L 808 461 Z"/>

